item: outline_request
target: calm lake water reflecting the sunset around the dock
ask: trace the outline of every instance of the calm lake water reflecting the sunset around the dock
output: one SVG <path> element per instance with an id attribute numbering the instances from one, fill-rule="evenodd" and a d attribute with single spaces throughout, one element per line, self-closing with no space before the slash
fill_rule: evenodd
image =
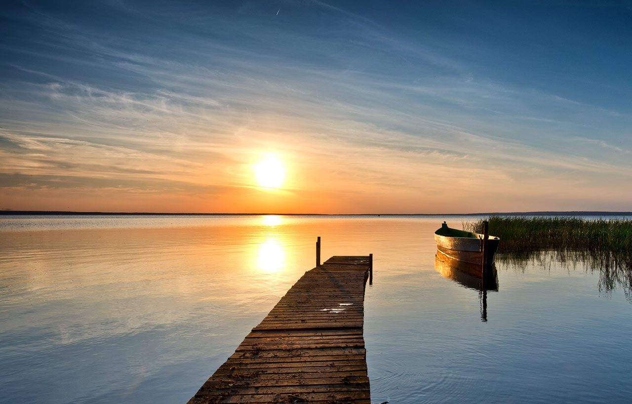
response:
<path id="1" fill-rule="evenodd" d="M 545 255 L 482 293 L 435 268 L 473 217 L 0 217 L 0 401 L 185 403 L 322 256 L 374 254 L 372 402 L 629 403 L 632 304 Z M 610 285 L 610 284 L 609 284 Z"/>

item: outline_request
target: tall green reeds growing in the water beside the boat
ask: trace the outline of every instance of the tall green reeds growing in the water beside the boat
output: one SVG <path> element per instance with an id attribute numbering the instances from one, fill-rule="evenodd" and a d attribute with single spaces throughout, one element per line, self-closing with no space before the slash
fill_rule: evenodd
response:
<path id="1" fill-rule="evenodd" d="M 507 257 L 549 250 L 581 254 L 602 271 L 632 271 L 632 220 L 491 216 L 487 221 L 489 234 L 501 239 L 498 251 Z M 482 233 L 483 219 L 463 223 L 463 230 Z M 632 285 L 629 274 L 625 278 Z"/>

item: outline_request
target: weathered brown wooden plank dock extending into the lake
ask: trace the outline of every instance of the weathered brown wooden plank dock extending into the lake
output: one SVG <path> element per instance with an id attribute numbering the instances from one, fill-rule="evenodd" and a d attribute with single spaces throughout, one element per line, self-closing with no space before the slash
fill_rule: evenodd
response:
<path id="1" fill-rule="evenodd" d="M 331 257 L 305 272 L 188 404 L 370 404 L 369 265 L 369 257 Z"/>

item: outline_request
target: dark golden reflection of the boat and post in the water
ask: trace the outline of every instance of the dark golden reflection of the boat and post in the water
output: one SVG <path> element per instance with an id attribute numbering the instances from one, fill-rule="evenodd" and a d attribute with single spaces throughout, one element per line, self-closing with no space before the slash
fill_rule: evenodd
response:
<path id="1" fill-rule="evenodd" d="M 477 290 L 480 298 L 480 319 L 487 321 L 487 291 L 498 291 L 498 272 L 495 264 L 483 271 L 481 265 L 454 259 L 441 250 L 437 250 L 435 269 L 442 276 L 466 288 Z"/>

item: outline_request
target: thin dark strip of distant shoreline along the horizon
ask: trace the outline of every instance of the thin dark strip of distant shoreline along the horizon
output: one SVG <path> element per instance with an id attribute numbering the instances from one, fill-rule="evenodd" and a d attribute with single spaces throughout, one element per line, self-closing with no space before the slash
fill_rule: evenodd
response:
<path id="1" fill-rule="evenodd" d="M 0 211 L 0 215 L 68 215 L 68 216 L 632 216 L 632 212 L 607 211 L 538 211 L 481 213 L 170 213 L 170 212 L 73 212 L 73 211 Z"/>

